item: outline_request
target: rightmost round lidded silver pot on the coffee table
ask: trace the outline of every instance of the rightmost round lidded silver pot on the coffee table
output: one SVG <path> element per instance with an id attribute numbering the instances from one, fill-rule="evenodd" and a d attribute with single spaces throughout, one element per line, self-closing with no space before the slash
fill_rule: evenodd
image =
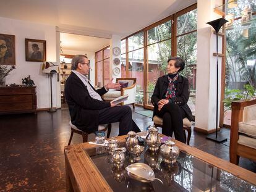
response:
<path id="1" fill-rule="evenodd" d="M 165 141 L 160 147 L 160 152 L 163 161 L 168 164 L 173 164 L 176 162 L 177 157 L 179 157 L 179 148 L 177 148 L 175 142 L 172 140 Z"/>

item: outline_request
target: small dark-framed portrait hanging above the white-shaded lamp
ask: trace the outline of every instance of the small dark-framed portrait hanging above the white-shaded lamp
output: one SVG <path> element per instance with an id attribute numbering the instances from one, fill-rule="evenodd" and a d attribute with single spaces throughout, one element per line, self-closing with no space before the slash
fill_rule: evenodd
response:
<path id="1" fill-rule="evenodd" d="M 26 61 L 46 61 L 46 41 L 25 39 Z"/>

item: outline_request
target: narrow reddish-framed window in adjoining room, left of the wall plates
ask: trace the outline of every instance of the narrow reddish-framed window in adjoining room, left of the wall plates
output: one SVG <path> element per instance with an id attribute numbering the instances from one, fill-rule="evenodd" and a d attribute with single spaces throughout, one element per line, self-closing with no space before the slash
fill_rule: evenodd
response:
<path id="1" fill-rule="evenodd" d="M 109 81 L 109 46 L 95 53 L 95 85 L 104 86 Z M 104 69 L 104 70 L 103 70 Z"/>

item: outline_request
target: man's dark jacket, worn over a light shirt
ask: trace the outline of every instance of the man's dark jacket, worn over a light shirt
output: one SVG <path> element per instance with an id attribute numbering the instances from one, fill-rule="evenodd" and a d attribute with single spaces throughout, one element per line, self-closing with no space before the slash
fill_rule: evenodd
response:
<path id="1" fill-rule="evenodd" d="M 104 87 L 95 91 L 100 96 L 107 92 Z M 71 122 L 77 128 L 87 133 L 97 131 L 99 123 L 98 111 L 99 109 L 110 107 L 110 102 L 93 99 L 87 90 L 87 86 L 83 84 L 82 80 L 75 73 L 71 73 L 66 80 L 65 97 L 69 105 Z"/>

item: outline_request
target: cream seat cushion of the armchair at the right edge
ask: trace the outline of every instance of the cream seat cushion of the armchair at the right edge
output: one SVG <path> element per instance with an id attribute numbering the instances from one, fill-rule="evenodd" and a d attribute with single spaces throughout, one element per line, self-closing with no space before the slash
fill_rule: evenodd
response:
<path id="1" fill-rule="evenodd" d="M 238 131 L 239 133 L 244 133 L 245 135 L 256 138 L 256 119 L 248 122 L 239 122 Z"/>

